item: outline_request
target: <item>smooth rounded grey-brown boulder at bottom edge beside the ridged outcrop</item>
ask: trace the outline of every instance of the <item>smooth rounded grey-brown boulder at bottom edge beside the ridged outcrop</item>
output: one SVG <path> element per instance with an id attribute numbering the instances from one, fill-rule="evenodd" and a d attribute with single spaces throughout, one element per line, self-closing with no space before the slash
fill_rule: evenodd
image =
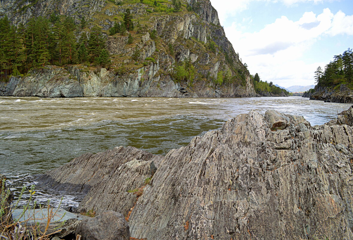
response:
<path id="1" fill-rule="evenodd" d="M 124 215 L 119 212 L 107 211 L 88 218 L 79 223 L 76 235 L 81 240 L 129 240 L 129 226 Z"/>

